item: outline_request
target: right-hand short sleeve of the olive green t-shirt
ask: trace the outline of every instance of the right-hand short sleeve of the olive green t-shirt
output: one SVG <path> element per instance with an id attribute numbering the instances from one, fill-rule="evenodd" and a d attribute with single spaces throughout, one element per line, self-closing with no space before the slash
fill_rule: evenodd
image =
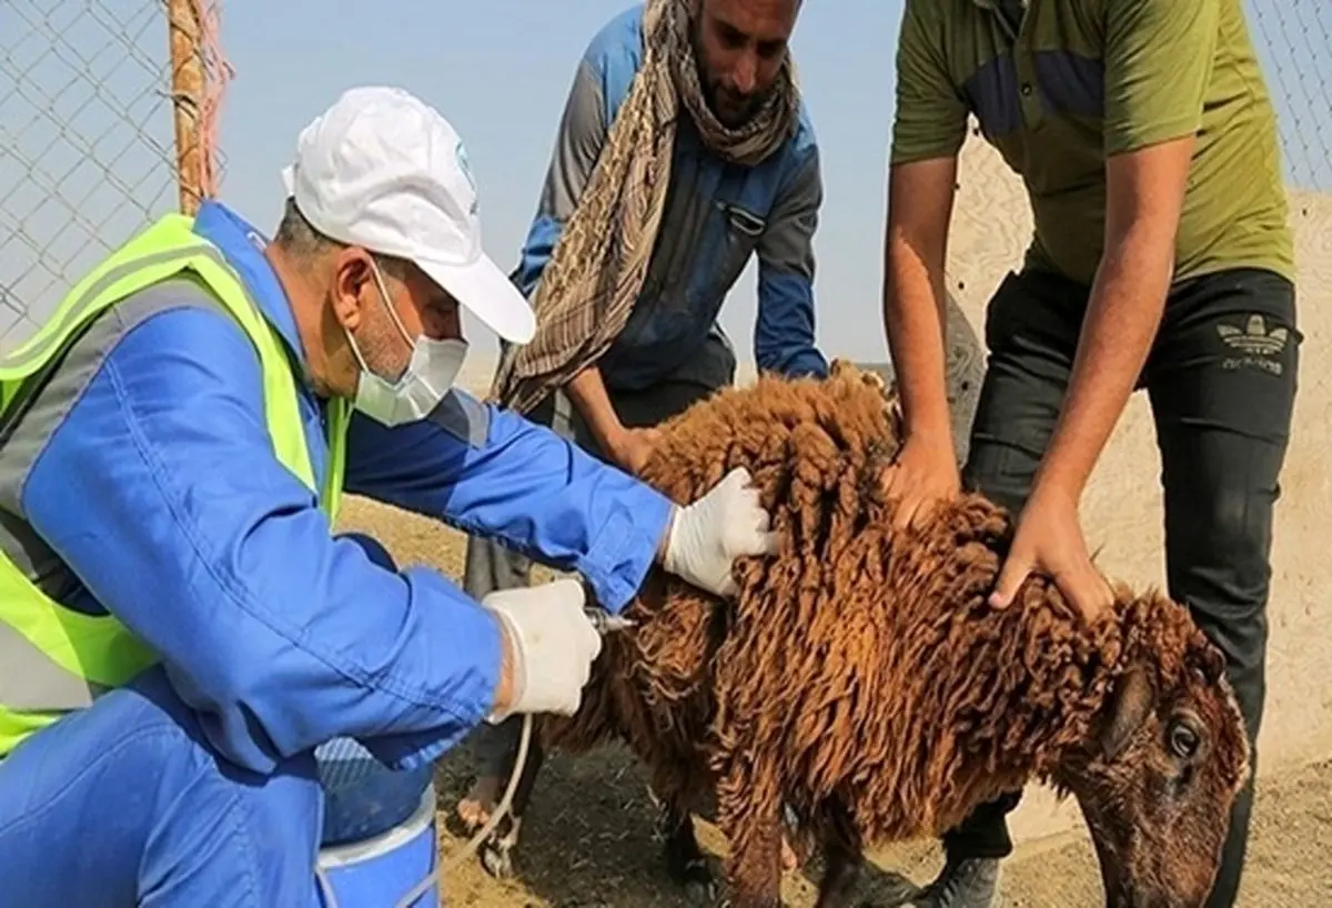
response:
<path id="1" fill-rule="evenodd" d="M 1220 0 L 1106 7 L 1106 154 L 1195 134 L 1215 67 Z"/>

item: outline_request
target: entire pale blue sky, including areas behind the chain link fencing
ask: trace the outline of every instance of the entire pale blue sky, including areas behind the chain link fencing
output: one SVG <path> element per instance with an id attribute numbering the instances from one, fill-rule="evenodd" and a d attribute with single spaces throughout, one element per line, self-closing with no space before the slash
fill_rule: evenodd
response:
<path id="1" fill-rule="evenodd" d="M 222 198 L 270 230 L 281 210 L 280 170 L 300 129 L 345 88 L 397 84 L 436 105 L 462 134 L 481 185 L 486 248 L 509 269 L 577 60 L 629 1 L 348 0 L 345 12 L 334 13 L 326 0 L 225 0 L 222 43 L 236 77 L 221 120 Z M 0 232 L 32 238 L 0 246 L 0 293 L 8 288 L 11 300 L 32 300 L 20 305 L 37 310 L 95 261 L 99 244 L 119 242 L 147 214 L 176 204 L 170 174 L 159 164 L 172 141 L 152 84 L 151 67 L 165 49 L 159 4 L 100 3 L 81 19 L 84 4 L 59 0 L 5 0 L 0 8 Z M 1332 4 L 1248 5 L 1281 104 L 1292 177 L 1332 188 Z M 805 4 L 794 37 L 823 156 L 817 297 L 819 341 L 830 355 L 886 357 L 878 297 L 899 15 L 900 0 L 817 0 Z M 135 49 L 111 40 L 112 31 L 132 35 Z M 16 73 L 24 73 L 17 85 Z M 89 73 L 104 101 L 89 100 Z M 124 111 L 144 124 L 147 137 L 135 140 Z M 75 141 L 61 141 L 57 124 L 72 126 L 64 137 Z M 111 165 L 89 164 L 89 150 Z M 125 202 L 131 193 L 135 204 Z M 41 268 L 33 268 L 32 246 L 44 250 Z M 753 270 L 722 316 L 745 355 Z M 469 333 L 478 347 L 493 349 L 484 329 L 473 325 Z"/>

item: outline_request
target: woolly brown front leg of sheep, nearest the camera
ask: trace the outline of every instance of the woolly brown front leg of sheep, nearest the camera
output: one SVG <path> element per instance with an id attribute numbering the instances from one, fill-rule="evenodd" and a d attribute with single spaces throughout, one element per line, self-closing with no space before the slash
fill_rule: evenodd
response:
<path id="1" fill-rule="evenodd" d="M 735 760 L 722 776 L 717 821 L 730 844 L 731 908 L 782 907 L 782 799 L 775 772 Z"/>

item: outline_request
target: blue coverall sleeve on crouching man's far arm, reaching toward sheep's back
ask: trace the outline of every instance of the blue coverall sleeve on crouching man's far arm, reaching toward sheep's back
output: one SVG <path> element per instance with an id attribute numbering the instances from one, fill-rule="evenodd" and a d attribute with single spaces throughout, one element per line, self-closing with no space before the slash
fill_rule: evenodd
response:
<path id="1" fill-rule="evenodd" d="M 653 487 L 461 390 L 422 422 L 354 417 L 346 487 L 578 571 L 613 612 L 642 586 L 673 511 Z"/>

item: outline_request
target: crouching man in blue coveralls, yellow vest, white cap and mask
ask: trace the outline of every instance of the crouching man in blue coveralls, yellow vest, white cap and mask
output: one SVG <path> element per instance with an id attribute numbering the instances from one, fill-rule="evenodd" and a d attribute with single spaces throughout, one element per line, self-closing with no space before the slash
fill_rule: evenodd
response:
<path id="1" fill-rule="evenodd" d="M 577 708 L 581 584 L 478 603 L 396 571 L 333 535 L 342 489 L 578 571 L 613 612 L 654 559 L 727 595 L 769 551 L 743 473 L 679 507 L 450 390 L 460 304 L 533 333 L 465 160 L 414 97 L 349 91 L 301 133 L 270 244 L 218 204 L 168 216 L 0 359 L 4 904 L 316 904 L 317 746 L 414 768 Z"/>

